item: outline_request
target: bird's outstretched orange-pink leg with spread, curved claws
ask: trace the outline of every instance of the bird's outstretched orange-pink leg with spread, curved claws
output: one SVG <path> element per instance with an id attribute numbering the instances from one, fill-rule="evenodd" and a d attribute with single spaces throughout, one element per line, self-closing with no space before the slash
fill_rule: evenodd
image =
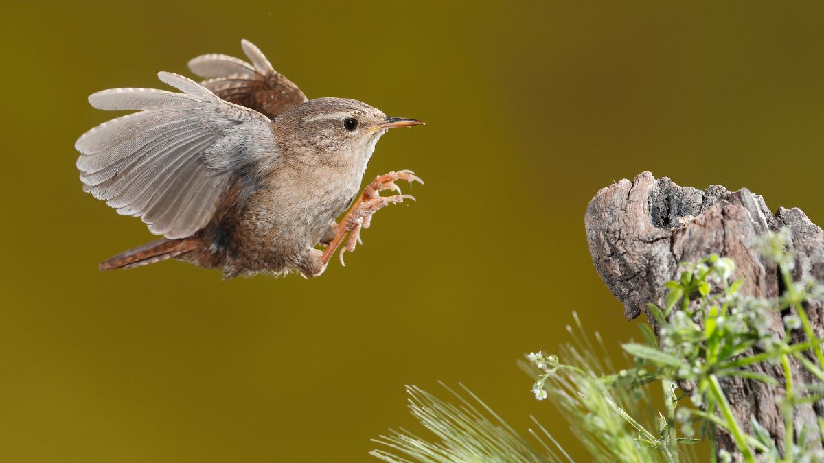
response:
<path id="1" fill-rule="evenodd" d="M 358 196 L 358 199 L 349 208 L 343 220 L 338 224 L 335 237 L 330 241 L 329 246 L 323 252 L 321 261 L 325 265 L 329 263 L 335 250 L 343 243 L 346 234 L 349 233 L 349 239 L 346 240 L 344 249 L 340 250 L 340 264 L 344 264 L 344 252 L 352 252 L 355 250 L 355 245 L 360 242 L 360 231 L 363 228 L 368 228 L 372 222 L 372 214 L 376 213 L 378 209 L 383 208 L 387 204 L 402 203 L 404 199 L 413 199 L 414 196 L 410 194 L 400 194 L 400 188 L 395 184 L 397 180 L 406 180 L 410 184 L 414 181 L 424 183 L 412 171 L 396 171 L 388 174 L 378 175 L 375 180 L 363 189 L 363 193 Z M 390 189 L 398 194 L 391 196 L 381 196 L 381 192 Z"/>

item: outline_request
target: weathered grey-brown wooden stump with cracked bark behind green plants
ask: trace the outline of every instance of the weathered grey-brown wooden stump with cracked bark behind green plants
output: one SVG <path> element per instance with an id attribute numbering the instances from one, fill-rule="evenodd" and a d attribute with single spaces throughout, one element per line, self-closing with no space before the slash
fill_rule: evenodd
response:
<path id="1" fill-rule="evenodd" d="M 762 259 L 753 239 L 768 230 L 788 227 L 793 232 L 796 252 L 794 277 L 812 276 L 824 282 L 824 233 L 798 208 L 780 208 L 773 214 L 761 196 L 747 189 L 730 192 L 723 186 L 704 191 L 681 187 L 664 177 L 656 180 L 649 172 L 633 181 L 620 180 L 598 191 L 585 217 L 587 241 L 598 274 L 623 303 L 627 320 L 642 312 L 646 304 L 662 306 L 665 283 L 676 278 L 678 264 L 700 260 L 710 254 L 728 256 L 736 263 L 733 278 L 743 278 L 742 292 L 754 297 L 776 297 L 782 289 L 780 269 Z M 808 315 L 818 336 L 824 334 L 824 303 L 808 306 Z M 654 323 L 652 317 L 650 321 Z M 774 313 L 768 327 L 784 337 L 782 314 Z M 803 333 L 794 332 L 803 339 Z M 780 366 L 757 364 L 753 371 L 774 376 L 784 384 Z M 794 377 L 805 383 L 815 378 L 794 362 Z M 723 390 L 733 406 L 738 423 L 751 432 L 755 417 L 784 448 L 784 419 L 776 397 L 784 395 L 780 386 L 767 386 L 742 378 L 726 378 Z M 798 405 L 795 432 L 807 426 L 808 436 L 819 436 L 817 416 L 824 404 Z M 733 451 L 726 433 L 719 434 L 719 447 Z M 820 444 L 819 444 L 820 445 Z"/>

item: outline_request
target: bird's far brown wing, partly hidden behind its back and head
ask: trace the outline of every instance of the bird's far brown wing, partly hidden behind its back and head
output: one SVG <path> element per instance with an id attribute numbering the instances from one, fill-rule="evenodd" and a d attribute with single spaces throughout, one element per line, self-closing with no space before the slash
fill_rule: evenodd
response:
<path id="1" fill-rule="evenodd" d="M 272 68 L 255 44 L 241 40 L 243 51 L 252 64 L 226 54 L 202 54 L 189 62 L 189 68 L 223 100 L 260 112 L 271 119 L 307 101 L 301 89 Z"/>

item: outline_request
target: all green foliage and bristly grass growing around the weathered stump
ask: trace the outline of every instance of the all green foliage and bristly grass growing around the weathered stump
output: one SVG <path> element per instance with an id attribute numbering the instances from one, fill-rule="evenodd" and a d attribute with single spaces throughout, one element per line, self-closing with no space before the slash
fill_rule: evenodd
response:
<path id="1" fill-rule="evenodd" d="M 824 297 L 824 288 L 812 279 L 791 278 L 789 239 L 789 232 L 782 231 L 768 233 L 758 243 L 781 271 L 784 293 L 774 299 L 742 295 L 742 280 L 730 282 L 735 264 L 727 258 L 710 255 L 681 264 L 679 278 L 667 283 L 664 306 L 648 306 L 658 338 L 652 326 L 642 323 L 644 343 L 622 346 L 623 361 L 631 367 L 618 370 L 600 334 L 596 332 L 593 341 L 574 313 L 575 328 L 567 327 L 573 342 L 561 346 L 558 356 L 530 353 L 526 362 L 519 362 L 536 380 L 532 393 L 563 412 L 597 461 L 707 461 L 691 445 L 700 441 L 708 444 L 710 461 L 732 461 L 732 455 L 717 447 L 716 427 L 730 434 L 745 461 L 755 461 L 756 454 L 760 461 L 824 461 L 822 436 L 812 436 L 806 428 L 795 433 L 793 420 L 794 407 L 822 399 L 822 388 L 801 383 L 790 368 L 790 359 L 795 359 L 824 382 L 822 341 L 804 309 L 806 302 Z M 766 328 L 770 312 L 786 314 L 784 336 Z M 791 341 L 793 330 L 803 330 L 803 342 Z M 783 452 L 755 419 L 751 433 L 745 431 L 721 387 L 725 378 L 733 377 L 777 385 L 773 376 L 751 369 L 761 362 L 779 364 L 784 372 Z M 689 397 L 679 385 L 691 391 Z M 382 450 L 372 455 L 385 461 L 572 461 L 540 424 L 542 437 L 531 433 L 539 437 L 543 452 L 530 447 L 474 395 L 484 413 L 460 395 L 462 405 L 455 407 L 419 388 L 409 391 L 413 414 L 440 440 L 429 442 L 401 430 L 376 442 L 404 457 Z M 662 403 L 655 406 L 653 398 Z M 824 429 L 821 420 L 819 429 Z M 544 438 L 553 447 L 545 445 Z"/>

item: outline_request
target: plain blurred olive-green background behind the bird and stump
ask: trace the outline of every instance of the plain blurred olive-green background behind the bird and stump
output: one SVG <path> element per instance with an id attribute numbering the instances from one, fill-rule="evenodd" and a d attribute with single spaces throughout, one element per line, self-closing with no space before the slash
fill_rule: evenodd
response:
<path id="1" fill-rule="evenodd" d="M 583 457 L 515 362 L 573 310 L 636 333 L 588 255 L 597 189 L 648 170 L 824 222 L 820 2 L 31 3 L 0 30 L 2 461 L 364 461 L 438 380 Z M 74 140 L 113 116 L 86 96 L 241 38 L 310 98 L 426 121 L 368 168 L 414 170 L 418 202 L 313 280 L 101 273 L 152 236 L 80 188 Z"/>

